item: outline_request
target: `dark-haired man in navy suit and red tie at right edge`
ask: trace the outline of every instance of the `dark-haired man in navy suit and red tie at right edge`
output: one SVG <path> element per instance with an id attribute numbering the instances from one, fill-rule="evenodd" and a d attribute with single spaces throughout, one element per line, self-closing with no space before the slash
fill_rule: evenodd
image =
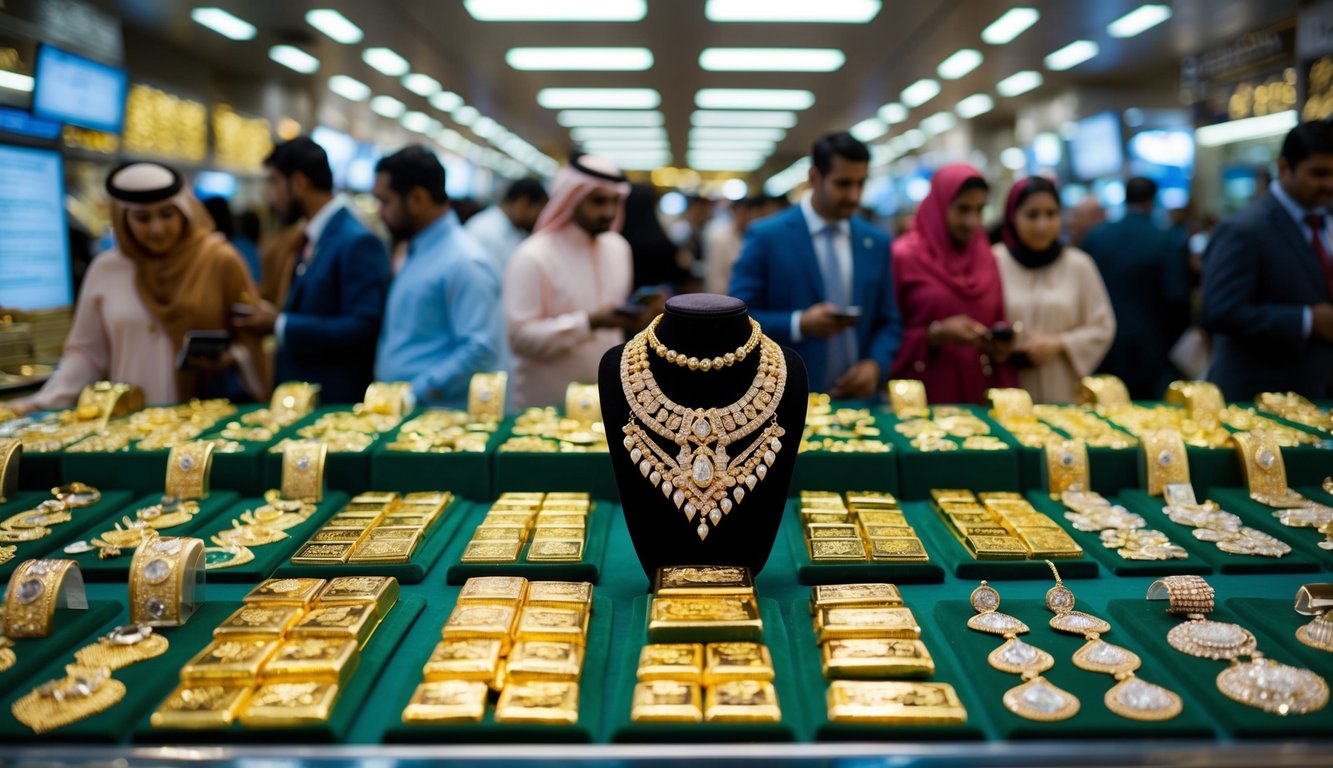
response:
<path id="1" fill-rule="evenodd" d="M 1204 252 L 1208 380 L 1228 400 L 1333 397 L 1333 124 L 1286 135 L 1269 193 L 1222 221 Z"/>

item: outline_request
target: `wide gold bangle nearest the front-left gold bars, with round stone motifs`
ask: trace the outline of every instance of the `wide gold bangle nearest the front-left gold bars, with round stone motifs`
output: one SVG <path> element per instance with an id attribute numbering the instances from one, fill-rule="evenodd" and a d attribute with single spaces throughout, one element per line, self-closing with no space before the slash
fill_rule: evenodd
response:
<path id="1" fill-rule="evenodd" d="M 129 620 L 151 627 L 179 627 L 203 597 L 204 541 L 160 536 L 135 551 L 129 564 Z"/>

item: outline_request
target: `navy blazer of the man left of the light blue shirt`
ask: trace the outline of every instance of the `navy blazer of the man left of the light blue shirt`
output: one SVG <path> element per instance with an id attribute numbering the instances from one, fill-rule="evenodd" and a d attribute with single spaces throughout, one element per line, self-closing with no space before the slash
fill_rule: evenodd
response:
<path id="1" fill-rule="evenodd" d="M 275 380 L 319 384 L 321 403 L 360 403 L 375 377 L 388 289 L 384 244 L 351 211 L 339 211 L 292 279 Z"/>

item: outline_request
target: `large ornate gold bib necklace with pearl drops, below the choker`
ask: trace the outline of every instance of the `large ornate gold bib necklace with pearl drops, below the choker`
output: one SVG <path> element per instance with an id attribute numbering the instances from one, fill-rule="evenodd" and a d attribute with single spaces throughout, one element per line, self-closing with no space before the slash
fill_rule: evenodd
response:
<path id="1" fill-rule="evenodd" d="M 720 524 L 724 515 L 744 501 L 745 493 L 768 476 L 782 449 L 780 437 L 786 432 L 776 417 L 786 388 L 782 349 L 761 337 L 754 381 L 740 400 L 721 408 L 685 408 L 669 400 L 648 365 L 645 333 L 625 344 L 620 373 L 631 411 L 624 427 L 629 460 L 688 521 L 693 523 L 698 515 L 696 532 L 700 540 L 708 537 L 709 523 Z M 672 457 L 645 427 L 678 447 L 678 455 Z M 762 432 L 749 448 L 734 457 L 728 455 L 730 445 L 760 428 Z"/>

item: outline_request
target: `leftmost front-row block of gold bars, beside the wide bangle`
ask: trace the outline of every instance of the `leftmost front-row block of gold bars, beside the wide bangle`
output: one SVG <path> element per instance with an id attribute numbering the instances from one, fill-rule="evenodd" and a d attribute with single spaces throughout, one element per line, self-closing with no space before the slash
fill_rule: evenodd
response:
<path id="1" fill-rule="evenodd" d="M 361 649 L 399 599 L 396 579 L 271 579 L 213 629 L 153 712 L 155 728 L 327 721 Z"/>

